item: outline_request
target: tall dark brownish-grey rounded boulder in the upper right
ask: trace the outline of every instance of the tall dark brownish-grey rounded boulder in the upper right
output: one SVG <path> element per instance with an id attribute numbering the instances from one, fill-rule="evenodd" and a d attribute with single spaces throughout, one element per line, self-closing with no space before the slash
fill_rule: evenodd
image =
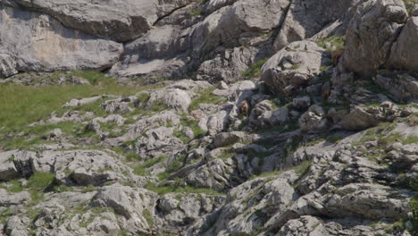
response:
<path id="1" fill-rule="evenodd" d="M 391 47 L 397 41 L 407 16 L 401 0 L 372 0 L 360 4 L 347 29 L 344 51 L 347 69 L 369 74 L 387 63 Z M 406 36 L 409 31 L 405 31 Z M 414 39 L 408 41 L 411 43 Z M 403 48 L 410 49 L 410 46 Z"/>

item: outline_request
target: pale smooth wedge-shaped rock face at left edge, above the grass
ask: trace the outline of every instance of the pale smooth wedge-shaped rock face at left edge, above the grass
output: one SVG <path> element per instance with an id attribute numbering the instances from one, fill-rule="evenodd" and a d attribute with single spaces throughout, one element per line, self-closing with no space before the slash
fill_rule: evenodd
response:
<path id="1" fill-rule="evenodd" d="M 0 41 L 9 55 L 6 58 L 15 61 L 6 59 L 3 76 L 16 71 L 104 69 L 116 63 L 122 52 L 121 44 L 64 28 L 52 16 L 17 6 L 0 5 Z"/>

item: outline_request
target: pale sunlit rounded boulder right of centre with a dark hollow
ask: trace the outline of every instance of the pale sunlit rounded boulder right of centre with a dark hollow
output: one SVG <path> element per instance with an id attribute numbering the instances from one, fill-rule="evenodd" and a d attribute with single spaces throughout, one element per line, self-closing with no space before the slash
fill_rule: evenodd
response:
<path id="1" fill-rule="evenodd" d="M 320 72 L 325 49 L 311 41 L 291 43 L 262 68 L 262 80 L 276 94 L 289 94 Z"/>

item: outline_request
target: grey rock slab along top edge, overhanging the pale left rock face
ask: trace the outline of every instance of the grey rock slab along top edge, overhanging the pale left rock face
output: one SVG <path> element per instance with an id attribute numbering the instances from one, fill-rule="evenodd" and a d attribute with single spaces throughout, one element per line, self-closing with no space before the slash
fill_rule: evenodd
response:
<path id="1" fill-rule="evenodd" d="M 125 42 L 144 35 L 159 18 L 191 1 L 17 0 L 16 2 L 54 16 L 67 28 Z"/>

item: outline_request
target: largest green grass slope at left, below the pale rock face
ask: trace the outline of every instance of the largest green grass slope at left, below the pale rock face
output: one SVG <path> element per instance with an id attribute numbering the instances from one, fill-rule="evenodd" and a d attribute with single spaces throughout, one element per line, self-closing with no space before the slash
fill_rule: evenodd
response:
<path id="1" fill-rule="evenodd" d="M 46 118 L 72 98 L 101 94 L 129 96 L 140 90 L 118 85 L 115 79 L 104 77 L 100 72 L 73 73 L 91 80 L 94 85 L 29 87 L 0 84 L 0 127 L 18 130 L 31 122 Z"/>

